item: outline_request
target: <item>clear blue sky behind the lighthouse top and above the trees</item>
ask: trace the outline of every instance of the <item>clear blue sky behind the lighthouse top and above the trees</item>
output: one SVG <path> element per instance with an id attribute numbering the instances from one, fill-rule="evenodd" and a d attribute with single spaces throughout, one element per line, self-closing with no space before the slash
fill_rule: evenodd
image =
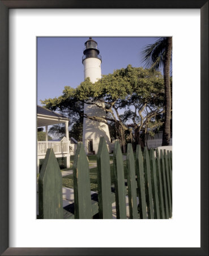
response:
<path id="1" fill-rule="evenodd" d="M 91 36 L 91 35 L 89 35 Z M 114 69 L 143 67 L 140 52 L 157 38 L 148 37 L 94 37 L 102 58 L 101 73 Z M 37 104 L 40 100 L 62 95 L 65 86 L 76 88 L 84 80 L 82 64 L 84 37 L 37 38 Z"/>

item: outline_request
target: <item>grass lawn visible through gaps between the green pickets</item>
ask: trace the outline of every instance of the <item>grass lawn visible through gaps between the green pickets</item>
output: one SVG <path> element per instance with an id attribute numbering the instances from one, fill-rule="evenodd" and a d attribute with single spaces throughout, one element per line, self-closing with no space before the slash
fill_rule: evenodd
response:
<path id="1" fill-rule="evenodd" d="M 123 161 L 125 179 L 127 179 L 126 174 L 126 161 Z M 97 168 L 92 168 L 89 170 L 90 173 L 90 183 L 91 191 L 97 191 Z M 113 174 L 113 164 L 110 164 L 110 174 L 111 174 L 111 184 L 114 183 L 114 174 Z M 62 178 L 62 186 L 66 188 L 73 188 L 73 176 L 68 175 Z"/>

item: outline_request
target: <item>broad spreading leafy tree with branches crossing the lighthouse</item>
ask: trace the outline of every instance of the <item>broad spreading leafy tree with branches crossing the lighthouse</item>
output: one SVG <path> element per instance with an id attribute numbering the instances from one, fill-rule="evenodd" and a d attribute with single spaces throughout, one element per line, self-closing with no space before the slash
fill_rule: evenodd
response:
<path id="1" fill-rule="evenodd" d="M 126 151 L 126 137 L 140 142 L 140 131 L 156 125 L 156 115 L 164 112 L 163 77 L 160 72 L 150 69 L 117 69 L 113 74 L 104 75 L 94 84 L 87 78 L 76 89 L 66 86 L 63 95 L 42 101 L 51 110 L 69 111 L 75 102 L 97 105 L 106 111 L 106 116 L 89 116 L 83 111 L 80 118 L 104 122 L 115 127 L 123 152 Z M 132 126 L 131 126 L 132 125 Z M 158 125 L 158 124 L 157 124 Z"/>

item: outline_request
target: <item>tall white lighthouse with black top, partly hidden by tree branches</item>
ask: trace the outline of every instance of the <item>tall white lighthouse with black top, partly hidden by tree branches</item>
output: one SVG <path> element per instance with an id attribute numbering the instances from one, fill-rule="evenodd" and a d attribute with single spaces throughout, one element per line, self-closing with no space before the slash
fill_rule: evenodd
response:
<path id="1" fill-rule="evenodd" d="M 91 82 L 101 79 L 101 56 L 97 42 L 89 38 L 85 43 L 83 51 L 82 63 L 84 65 L 84 79 L 89 77 Z M 101 102 L 99 102 L 100 106 Z M 84 114 L 95 117 L 105 117 L 104 109 L 96 105 L 84 104 Z M 100 137 L 105 137 L 106 143 L 110 150 L 110 136 L 108 125 L 104 122 L 92 121 L 91 119 L 83 119 L 83 145 L 87 154 L 97 154 Z"/>

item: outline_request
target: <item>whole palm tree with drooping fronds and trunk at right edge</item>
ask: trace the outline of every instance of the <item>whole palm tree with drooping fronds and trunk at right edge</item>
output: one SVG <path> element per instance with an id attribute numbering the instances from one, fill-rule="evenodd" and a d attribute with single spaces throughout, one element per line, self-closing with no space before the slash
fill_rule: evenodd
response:
<path id="1" fill-rule="evenodd" d="M 159 70 L 163 67 L 165 88 L 165 122 L 163 130 L 162 146 L 168 146 L 170 142 L 170 117 L 172 98 L 170 92 L 170 64 L 172 61 L 172 37 L 160 38 L 154 44 L 149 44 L 142 52 L 143 62 L 147 67 Z"/>

